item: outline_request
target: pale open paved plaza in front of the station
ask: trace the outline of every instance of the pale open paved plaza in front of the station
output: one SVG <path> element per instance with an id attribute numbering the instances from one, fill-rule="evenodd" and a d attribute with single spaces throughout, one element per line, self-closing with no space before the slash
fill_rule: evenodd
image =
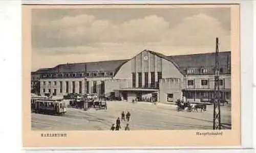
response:
<path id="1" fill-rule="evenodd" d="M 68 108 L 67 114 L 62 116 L 32 113 L 32 130 L 110 130 L 117 117 L 121 119 L 122 111 L 131 112 L 131 130 L 212 129 L 213 106 L 207 106 L 206 112 L 178 112 L 176 106 L 169 104 L 108 101 L 108 110 Z M 221 122 L 224 129 L 231 128 L 231 106 L 221 106 Z M 121 122 L 121 130 L 126 123 Z"/>

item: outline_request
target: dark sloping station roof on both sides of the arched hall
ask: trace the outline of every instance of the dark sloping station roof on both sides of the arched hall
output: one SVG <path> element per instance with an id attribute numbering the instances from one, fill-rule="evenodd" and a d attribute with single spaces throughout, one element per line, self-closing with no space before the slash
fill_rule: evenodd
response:
<path id="1" fill-rule="evenodd" d="M 200 67 L 215 66 L 215 53 L 165 56 L 163 54 L 153 52 L 151 50 L 143 50 L 143 51 L 148 51 L 153 55 L 156 55 L 160 58 L 163 58 L 167 61 L 172 62 L 177 67 L 177 69 L 180 70 L 182 74 L 185 74 L 186 73 L 185 69 L 189 67 L 200 68 Z M 230 54 L 231 52 L 219 53 L 220 66 L 227 66 L 228 64 L 230 64 Z M 36 73 L 84 72 L 84 71 L 112 71 L 116 73 L 120 69 L 120 67 L 129 60 L 130 59 L 59 64 L 53 68 L 38 69 Z"/>

